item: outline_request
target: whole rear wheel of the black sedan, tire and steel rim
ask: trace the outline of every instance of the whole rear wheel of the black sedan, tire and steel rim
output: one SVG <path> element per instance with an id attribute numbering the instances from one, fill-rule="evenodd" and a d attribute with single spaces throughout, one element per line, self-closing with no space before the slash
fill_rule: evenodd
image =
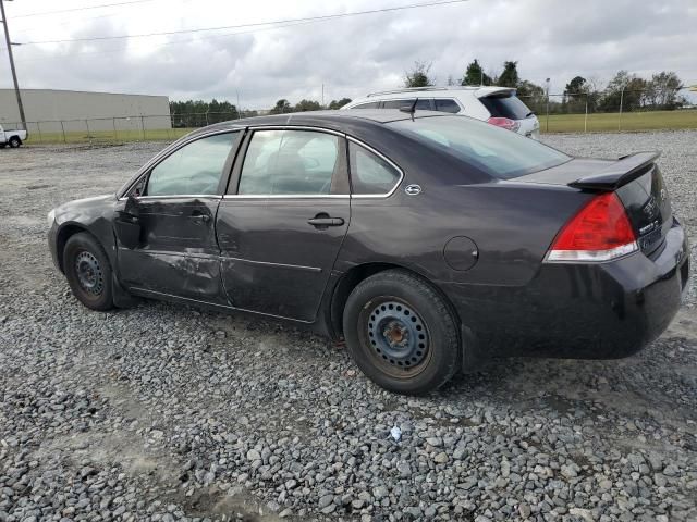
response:
<path id="1" fill-rule="evenodd" d="M 346 300 L 343 328 L 360 371 L 390 391 L 423 395 L 460 369 L 457 321 L 440 294 L 408 272 L 360 282 Z"/>

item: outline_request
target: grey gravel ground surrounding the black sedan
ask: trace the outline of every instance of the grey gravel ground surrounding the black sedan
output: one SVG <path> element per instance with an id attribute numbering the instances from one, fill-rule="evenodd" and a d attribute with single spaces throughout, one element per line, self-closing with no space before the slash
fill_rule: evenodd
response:
<path id="1" fill-rule="evenodd" d="M 697 133 L 546 140 L 662 149 L 697 231 Z M 635 357 L 510 359 L 405 398 L 285 324 L 78 304 L 51 265 L 47 211 L 114 190 L 161 147 L 0 150 L 0 522 L 697 520 L 694 276 Z"/>

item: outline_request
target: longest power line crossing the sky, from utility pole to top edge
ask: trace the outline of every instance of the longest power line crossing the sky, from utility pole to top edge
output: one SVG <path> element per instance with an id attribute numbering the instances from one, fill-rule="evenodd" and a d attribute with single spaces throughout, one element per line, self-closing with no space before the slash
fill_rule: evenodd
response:
<path id="1" fill-rule="evenodd" d="M 148 1 L 148 0 L 138 0 L 138 1 Z M 151 1 L 151 0 L 150 0 Z M 184 33 L 203 33 L 209 30 L 223 30 L 223 29 L 241 29 L 246 27 L 260 27 L 264 25 L 278 25 L 278 24 L 288 24 L 293 22 L 315 22 L 315 21 L 323 21 L 323 20 L 337 20 L 337 18 L 345 18 L 350 16 L 360 16 L 365 14 L 377 14 L 377 13 L 388 13 L 393 11 L 404 11 L 408 9 L 419 9 L 419 8 L 433 8 L 438 5 L 448 5 L 453 3 L 464 3 L 469 0 L 441 0 L 437 2 L 426 2 L 426 3 L 412 3 L 407 5 L 396 5 L 393 8 L 382 8 L 382 9 L 371 9 L 367 11 L 354 11 L 351 13 L 337 13 L 337 14 L 325 14 L 320 16 L 306 16 L 302 18 L 286 18 L 286 20 L 277 20 L 272 22 L 256 22 L 252 24 L 240 24 L 240 25 L 223 25 L 219 27 L 198 27 L 195 29 L 180 29 L 180 30 L 167 30 L 161 33 L 145 33 L 139 35 L 117 35 L 117 36 L 95 36 L 95 37 L 85 37 L 85 38 L 66 38 L 62 40 L 36 40 L 36 41 L 24 41 L 23 46 L 37 46 L 41 44 L 69 44 L 73 41 L 102 41 L 102 40 L 121 40 L 129 38 L 148 38 L 152 36 L 170 36 L 170 35 L 179 35 Z"/>

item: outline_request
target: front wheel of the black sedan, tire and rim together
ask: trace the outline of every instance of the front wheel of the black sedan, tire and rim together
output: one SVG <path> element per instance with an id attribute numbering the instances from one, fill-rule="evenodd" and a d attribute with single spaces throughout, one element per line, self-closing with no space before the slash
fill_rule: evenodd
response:
<path id="1" fill-rule="evenodd" d="M 111 264 L 99 241 L 89 233 L 71 236 L 63 249 L 63 271 L 73 295 L 91 310 L 113 308 Z"/>

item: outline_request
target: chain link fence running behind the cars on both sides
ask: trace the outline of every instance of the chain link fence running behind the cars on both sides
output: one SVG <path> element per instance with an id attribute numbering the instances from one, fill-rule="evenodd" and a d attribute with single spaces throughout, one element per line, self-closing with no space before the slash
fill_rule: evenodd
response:
<path id="1" fill-rule="evenodd" d="M 687 89 L 681 98 L 689 101 Z M 650 103 L 648 91 L 538 94 L 518 97 L 540 120 L 542 133 L 590 133 L 697 128 L 697 107 L 684 103 L 667 108 Z M 213 123 L 268 114 L 268 110 L 191 114 L 134 115 L 27 122 L 29 144 L 99 144 L 174 140 L 194 128 Z M 5 129 L 17 122 L 0 122 Z"/>

